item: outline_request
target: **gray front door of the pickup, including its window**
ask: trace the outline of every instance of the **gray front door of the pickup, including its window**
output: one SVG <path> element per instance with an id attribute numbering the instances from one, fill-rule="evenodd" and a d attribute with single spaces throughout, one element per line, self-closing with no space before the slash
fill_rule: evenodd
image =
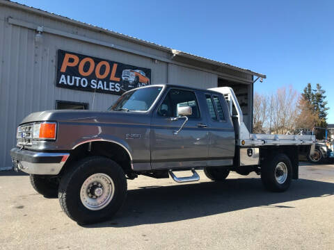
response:
<path id="1" fill-rule="evenodd" d="M 200 94 L 193 90 L 170 88 L 154 110 L 151 122 L 150 149 L 152 169 L 203 167 L 207 163 L 209 136 L 206 115 L 198 106 Z M 177 131 L 185 119 L 178 117 L 177 107 L 190 106 L 192 114 L 184 128 Z M 201 112 L 202 111 L 202 112 Z"/>

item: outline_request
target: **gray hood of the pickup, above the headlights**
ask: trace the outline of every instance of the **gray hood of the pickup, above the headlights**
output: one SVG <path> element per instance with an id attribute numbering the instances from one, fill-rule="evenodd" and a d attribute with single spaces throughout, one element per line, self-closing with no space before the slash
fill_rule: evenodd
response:
<path id="1" fill-rule="evenodd" d="M 138 121 L 138 117 L 148 116 L 148 113 L 135 111 L 89 111 L 89 110 L 46 110 L 31 113 L 21 124 L 30 122 L 93 122 L 127 124 Z M 139 118 L 140 119 L 140 118 Z"/>

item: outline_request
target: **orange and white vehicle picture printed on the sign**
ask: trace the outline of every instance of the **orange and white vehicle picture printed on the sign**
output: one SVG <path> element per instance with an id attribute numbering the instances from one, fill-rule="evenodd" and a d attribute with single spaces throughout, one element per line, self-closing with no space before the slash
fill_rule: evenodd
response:
<path id="1" fill-rule="evenodd" d="M 150 84 L 150 79 L 140 69 L 124 69 L 122 72 L 122 90 L 132 90 Z"/>

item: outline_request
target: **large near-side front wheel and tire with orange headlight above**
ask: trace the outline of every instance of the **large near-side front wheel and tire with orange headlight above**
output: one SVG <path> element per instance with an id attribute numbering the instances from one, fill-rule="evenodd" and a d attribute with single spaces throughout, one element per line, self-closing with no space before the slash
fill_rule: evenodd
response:
<path id="1" fill-rule="evenodd" d="M 61 208 L 79 224 L 111 218 L 126 196 L 127 180 L 122 167 L 100 156 L 84 158 L 68 169 L 58 190 Z"/>

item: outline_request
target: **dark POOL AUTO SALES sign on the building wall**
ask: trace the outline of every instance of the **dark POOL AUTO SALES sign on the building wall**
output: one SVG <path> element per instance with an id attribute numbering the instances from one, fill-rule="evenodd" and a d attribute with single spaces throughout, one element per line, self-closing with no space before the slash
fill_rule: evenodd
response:
<path id="1" fill-rule="evenodd" d="M 58 50 L 60 88 L 122 94 L 151 83 L 151 69 Z"/>

